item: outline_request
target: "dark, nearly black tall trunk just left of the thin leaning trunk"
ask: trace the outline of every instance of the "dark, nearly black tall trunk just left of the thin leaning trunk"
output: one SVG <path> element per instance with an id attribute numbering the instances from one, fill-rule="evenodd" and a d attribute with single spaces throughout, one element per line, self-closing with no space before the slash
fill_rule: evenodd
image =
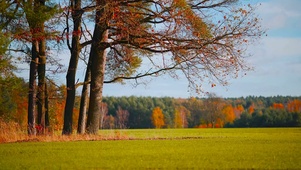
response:
<path id="1" fill-rule="evenodd" d="M 73 18 L 73 34 L 72 34 L 72 45 L 71 45 L 71 57 L 69 61 L 68 73 L 66 76 L 67 82 L 67 97 L 64 113 L 64 126 L 63 135 L 70 135 L 72 133 L 72 117 L 73 117 L 73 107 L 75 103 L 75 76 L 77 70 L 77 64 L 79 59 L 80 47 L 80 31 L 81 31 L 81 0 L 72 0 L 71 6 L 72 18 Z"/>

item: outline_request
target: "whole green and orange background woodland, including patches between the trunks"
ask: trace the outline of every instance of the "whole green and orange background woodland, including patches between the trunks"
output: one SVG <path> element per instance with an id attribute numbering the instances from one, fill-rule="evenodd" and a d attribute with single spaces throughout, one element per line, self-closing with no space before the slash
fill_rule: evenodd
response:
<path id="1" fill-rule="evenodd" d="M 61 130 L 66 86 L 49 81 L 47 102 L 50 127 Z M 0 78 L 0 120 L 26 129 L 27 87 L 23 79 Z M 80 97 L 77 97 L 73 128 L 77 128 Z M 104 97 L 100 129 L 108 128 L 210 128 L 301 126 L 301 96 L 241 98 Z"/>

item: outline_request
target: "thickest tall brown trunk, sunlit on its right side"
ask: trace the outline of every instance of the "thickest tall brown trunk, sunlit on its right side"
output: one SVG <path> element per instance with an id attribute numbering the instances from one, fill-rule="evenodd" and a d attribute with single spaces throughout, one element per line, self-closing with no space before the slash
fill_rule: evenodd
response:
<path id="1" fill-rule="evenodd" d="M 87 118 L 87 132 L 97 134 L 99 130 L 99 119 L 101 112 L 102 90 L 106 64 L 106 42 L 108 37 L 107 23 L 101 20 L 104 14 L 105 1 L 97 0 L 99 7 L 95 15 L 95 27 L 90 51 L 91 58 L 91 84 L 90 102 Z"/>

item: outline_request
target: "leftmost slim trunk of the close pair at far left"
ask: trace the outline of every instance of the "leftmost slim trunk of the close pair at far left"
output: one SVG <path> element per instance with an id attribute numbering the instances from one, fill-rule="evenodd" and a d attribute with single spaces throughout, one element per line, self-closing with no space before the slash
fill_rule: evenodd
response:
<path id="1" fill-rule="evenodd" d="M 35 94 L 36 94 L 36 74 L 38 63 L 38 41 L 32 42 L 31 47 L 31 62 L 29 71 L 29 89 L 28 89 L 28 115 L 27 115 L 27 131 L 29 135 L 35 135 Z"/>

